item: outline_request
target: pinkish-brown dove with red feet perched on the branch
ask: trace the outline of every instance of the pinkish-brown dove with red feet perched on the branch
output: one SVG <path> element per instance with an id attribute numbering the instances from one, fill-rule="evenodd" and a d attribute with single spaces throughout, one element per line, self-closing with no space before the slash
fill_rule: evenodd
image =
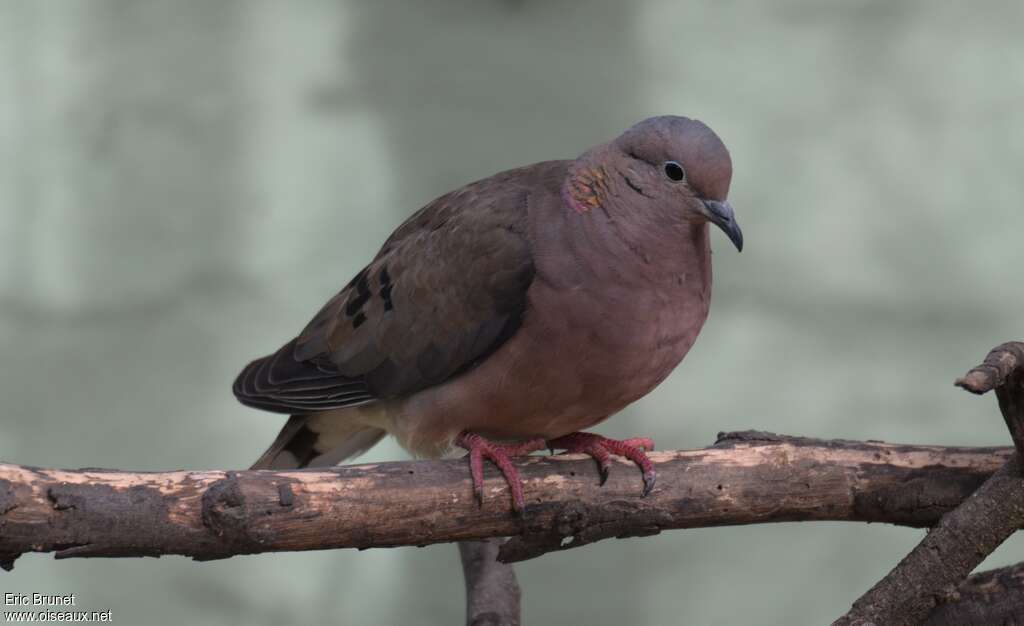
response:
<path id="1" fill-rule="evenodd" d="M 650 440 L 580 432 L 654 388 L 700 332 L 708 222 L 737 249 L 732 165 L 708 126 L 650 118 L 574 161 L 508 170 L 434 200 L 299 336 L 249 364 L 234 394 L 291 414 L 253 467 L 337 464 L 385 434 L 417 457 L 549 447 L 654 471 Z"/>

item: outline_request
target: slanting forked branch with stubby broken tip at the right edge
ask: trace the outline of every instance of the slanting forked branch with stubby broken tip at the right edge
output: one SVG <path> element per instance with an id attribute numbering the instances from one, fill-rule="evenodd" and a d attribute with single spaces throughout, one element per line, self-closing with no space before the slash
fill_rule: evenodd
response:
<path id="1" fill-rule="evenodd" d="M 939 524 L 834 626 L 920 624 L 943 597 L 1024 524 L 1024 343 L 1005 343 L 956 384 L 996 389 L 1017 453 Z"/>

